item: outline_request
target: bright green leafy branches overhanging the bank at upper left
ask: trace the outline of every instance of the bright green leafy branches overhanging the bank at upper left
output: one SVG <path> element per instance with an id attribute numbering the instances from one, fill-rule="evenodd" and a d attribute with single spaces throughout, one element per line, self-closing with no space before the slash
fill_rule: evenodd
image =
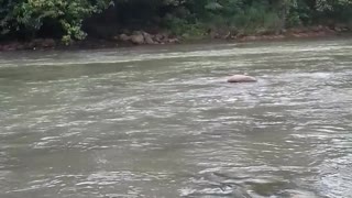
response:
<path id="1" fill-rule="evenodd" d="M 0 4 L 7 8 L 0 11 L 2 34 L 26 31 L 34 35 L 44 20 L 52 19 L 59 22 L 66 32 L 63 41 L 67 42 L 85 38 L 86 34 L 80 29 L 82 20 L 103 9 L 107 2 L 99 0 L 94 4 L 89 0 L 20 0 L 13 3 L 11 0 L 2 0 Z"/>

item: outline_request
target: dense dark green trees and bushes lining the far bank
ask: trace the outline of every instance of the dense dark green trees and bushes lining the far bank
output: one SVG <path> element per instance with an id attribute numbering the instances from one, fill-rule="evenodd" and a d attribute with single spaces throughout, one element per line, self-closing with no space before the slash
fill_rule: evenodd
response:
<path id="1" fill-rule="evenodd" d="M 101 24 L 116 33 L 155 28 L 197 36 L 212 29 L 279 32 L 321 23 L 352 25 L 352 0 L 0 0 L 0 40 L 67 43 L 99 35 Z"/>

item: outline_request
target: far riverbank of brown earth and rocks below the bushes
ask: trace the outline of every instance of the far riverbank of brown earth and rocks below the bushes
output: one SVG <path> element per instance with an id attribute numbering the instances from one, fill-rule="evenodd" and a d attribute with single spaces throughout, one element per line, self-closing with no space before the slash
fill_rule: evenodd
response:
<path id="1" fill-rule="evenodd" d="M 292 38 L 315 38 L 315 37 L 331 37 L 331 36 L 349 36 L 352 35 L 352 30 L 348 26 L 310 26 L 295 28 L 282 31 L 278 34 L 274 33 L 256 33 L 241 34 L 230 31 L 209 31 L 202 36 L 187 35 L 175 36 L 166 32 L 150 34 L 144 31 L 134 31 L 130 34 L 119 34 L 111 38 L 98 40 L 88 37 L 84 41 L 75 41 L 70 45 L 64 45 L 59 40 L 54 38 L 36 38 L 30 42 L 9 41 L 0 43 L 1 51 L 35 51 L 35 50 L 82 50 L 82 48 L 118 48 L 132 47 L 139 45 L 167 45 L 167 44 L 184 44 L 193 42 L 209 42 L 209 41 L 231 41 L 231 42 L 253 42 L 253 41 L 279 41 Z"/>

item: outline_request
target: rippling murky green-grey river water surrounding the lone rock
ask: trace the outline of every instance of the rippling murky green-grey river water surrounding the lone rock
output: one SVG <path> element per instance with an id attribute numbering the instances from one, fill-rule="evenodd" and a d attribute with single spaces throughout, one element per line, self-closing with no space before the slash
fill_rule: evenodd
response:
<path id="1" fill-rule="evenodd" d="M 0 197 L 352 197 L 352 40 L 1 53 Z"/>

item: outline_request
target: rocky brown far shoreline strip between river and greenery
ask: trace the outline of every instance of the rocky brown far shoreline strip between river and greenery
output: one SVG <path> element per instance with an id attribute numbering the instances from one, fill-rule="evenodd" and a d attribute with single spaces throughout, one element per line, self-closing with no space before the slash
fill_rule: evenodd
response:
<path id="1" fill-rule="evenodd" d="M 280 34 L 262 34 L 262 35 L 207 35 L 204 37 L 182 38 L 178 36 L 169 37 L 161 43 L 133 43 L 131 41 L 98 40 L 90 38 L 74 42 L 70 45 L 63 45 L 61 41 L 53 38 L 36 38 L 29 42 L 9 41 L 0 43 L 0 52 L 9 51 L 46 51 L 46 50 L 99 50 L 99 48 L 120 48 L 133 46 L 152 46 L 152 45 L 182 45 L 189 43 L 208 43 L 213 41 L 246 43 L 264 41 L 285 41 L 300 38 L 323 38 L 323 37 L 342 37 L 352 36 L 351 30 L 329 29 L 327 26 L 311 26 L 300 29 L 288 29 Z"/>

